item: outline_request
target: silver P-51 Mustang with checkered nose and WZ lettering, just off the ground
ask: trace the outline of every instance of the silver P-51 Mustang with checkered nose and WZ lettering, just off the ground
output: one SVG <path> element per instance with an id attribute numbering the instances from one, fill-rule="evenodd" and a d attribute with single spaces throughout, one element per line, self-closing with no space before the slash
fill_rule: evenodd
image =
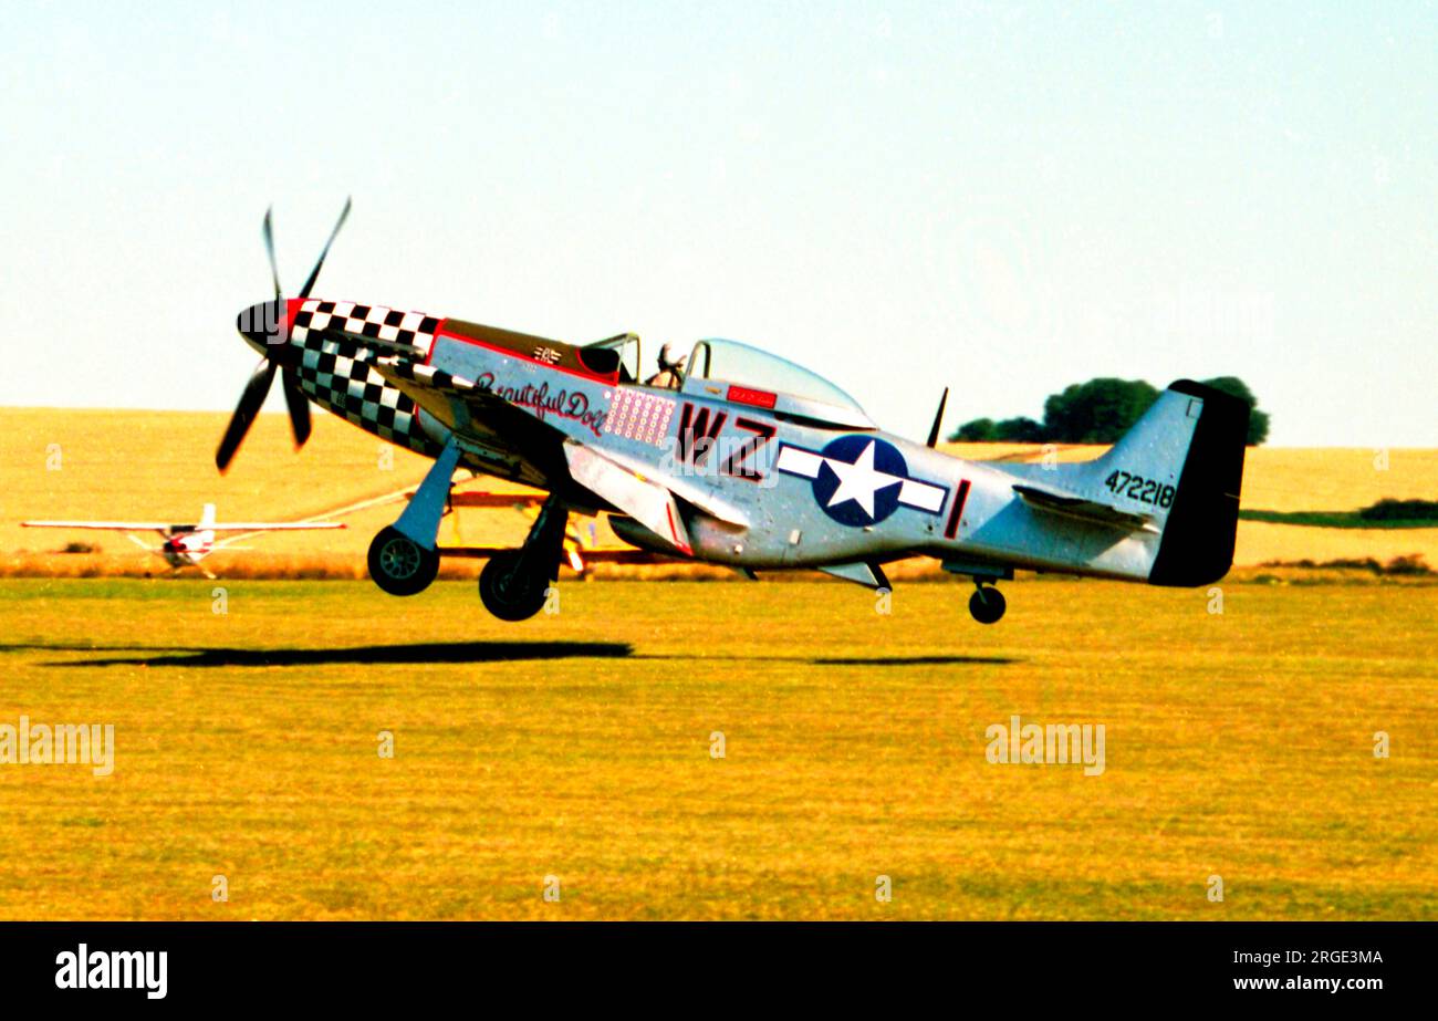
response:
<path id="1" fill-rule="evenodd" d="M 439 569 L 436 535 L 460 464 L 549 493 L 525 544 L 489 559 L 479 595 L 502 620 L 536 614 L 569 513 L 613 515 L 651 552 L 758 571 L 817 568 L 887 588 L 887 561 L 925 555 L 974 580 L 974 618 L 1004 615 L 1015 569 L 1205 585 L 1228 572 L 1248 407 L 1181 380 L 1103 457 L 988 464 L 881 431 L 843 390 L 736 341 L 702 339 L 672 385 L 640 381 L 640 342 L 588 345 L 381 305 L 311 298 L 349 203 L 298 298 L 237 326 L 263 355 L 216 453 L 223 472 L 279 372 L 296 446 L 309 401 L 434 459 L 370 546 L 394 595 Z M 945 395 L 948 391 L 945 391 Z"/>

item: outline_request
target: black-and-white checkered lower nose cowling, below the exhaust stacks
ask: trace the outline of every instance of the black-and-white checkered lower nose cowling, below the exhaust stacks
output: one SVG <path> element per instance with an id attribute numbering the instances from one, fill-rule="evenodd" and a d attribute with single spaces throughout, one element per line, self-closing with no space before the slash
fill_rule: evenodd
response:
<path id="1" fill-rule="evenodd" d="M 298 325 L 299 316 L 295 318 L 295 322 L 296 326 L 290 331 L 290 336 L 303 347 L 299 385 L 309 397 L 383 440 L 429 457 L 439 453 L 440 446 L 420 427 L 418 408 L 416 408 L 414 401 L 394 387 L 385 385 L 384 377 L 374 371 L 375 352 L 372 349 L 334 334 L 316 332 L 324 326 L 301 328 Z M 344 329 L 338 324 L 331 328 Z M 301 332 L 302 329 L 303 332 Z"/>

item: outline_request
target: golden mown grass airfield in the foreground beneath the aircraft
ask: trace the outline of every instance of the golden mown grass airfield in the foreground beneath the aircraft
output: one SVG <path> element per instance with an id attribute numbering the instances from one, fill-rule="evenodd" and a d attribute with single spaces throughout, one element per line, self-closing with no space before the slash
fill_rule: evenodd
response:
<path id="1" fill-rule="evenodd" d="M 116 741 L 0 765 L 0 916 L 1438 917 L 1435 585 L 211 588 L 0 582 L 0 723 Z M 1014 713 L 1106 772 L 991 765 Z"/>

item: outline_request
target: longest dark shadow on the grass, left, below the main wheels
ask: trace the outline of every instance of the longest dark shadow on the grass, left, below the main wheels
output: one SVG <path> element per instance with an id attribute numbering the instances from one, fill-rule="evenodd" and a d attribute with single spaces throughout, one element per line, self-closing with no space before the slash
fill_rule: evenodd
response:
<path id="1" fill-rule="evenodd" d="M 9 649 L 14 649 L 13 646 Z M 348 649 L 175 649 L 175 647 L 76 647 L 29 646 L 47 651 L 131 653 L 129 656 L 50 661 L 50 667 L 144 666 L 144 667 L 260 667 L 326 666 L 332 663 L 502 663 L 513 660 L 618 659 L 634 651 L 617 641 L 424 641 L 406 646 L 357 646 Z M 134 653 L 148 653 L 135 656 Z"/>

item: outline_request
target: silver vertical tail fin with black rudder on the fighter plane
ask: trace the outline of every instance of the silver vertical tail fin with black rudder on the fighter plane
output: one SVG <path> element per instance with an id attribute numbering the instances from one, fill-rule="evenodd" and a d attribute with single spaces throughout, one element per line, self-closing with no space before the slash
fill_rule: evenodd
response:
<path id="1" fill-rule="evenodd" d="M 1149 584 L 1206 585 L 1228 574 L 1247 440 L 1244 401 L 1179 380 L 1096 462 L 1096 470 L 1106 466 L 1145 479 L 1173 477 L 1176 469 Z"/>

